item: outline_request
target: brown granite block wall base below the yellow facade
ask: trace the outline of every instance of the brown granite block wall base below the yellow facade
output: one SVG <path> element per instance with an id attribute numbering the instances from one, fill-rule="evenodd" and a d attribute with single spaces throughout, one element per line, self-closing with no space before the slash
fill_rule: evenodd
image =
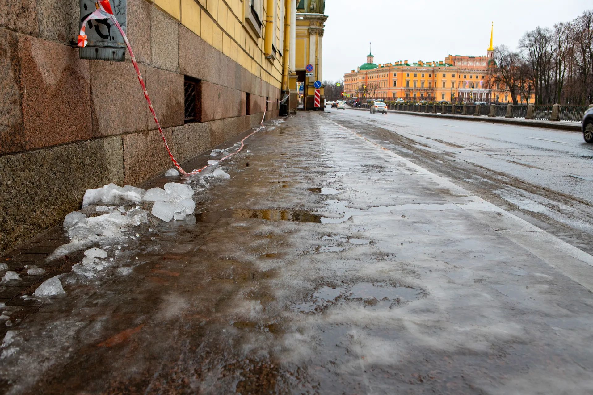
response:
<path id="1" fill-rule="evenodd" d="M 78 4 L 0 0 L 0 251 L 58 224 L 88 188 L 140 184 L 172 167 L 129 54 L 122 63 L 78 58 Z M 256 126 L 280 89 L 161 10 L 127 0 L 127 34 L 183 162 Z M 186 78 L 199 81 L 198 122 L 184 123 Z M 267 118 L 278 116 L 269 108 Z"/>

